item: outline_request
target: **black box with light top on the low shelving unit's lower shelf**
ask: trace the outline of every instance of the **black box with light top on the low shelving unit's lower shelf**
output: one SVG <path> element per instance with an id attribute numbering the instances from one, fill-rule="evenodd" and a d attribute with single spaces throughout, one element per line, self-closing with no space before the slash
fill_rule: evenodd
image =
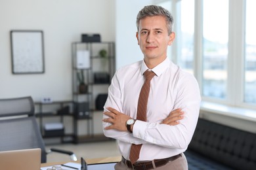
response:
<path id="1" fill-rule="evenodd" d="M 62 137 L 64 136 L 64 126 L 60 122 L 47 123 L 44 126 L 45 137 Z"/>

